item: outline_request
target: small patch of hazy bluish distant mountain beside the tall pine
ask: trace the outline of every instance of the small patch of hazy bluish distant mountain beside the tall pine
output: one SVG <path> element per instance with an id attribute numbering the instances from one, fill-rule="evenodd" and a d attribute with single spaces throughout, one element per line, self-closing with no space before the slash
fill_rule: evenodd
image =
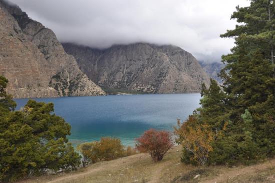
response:
<path id="1" fill-rule="evenodd" d="M 204 61 L 199 61 L 202 69 L 209 75 L 210 78 L 215 79 L 219 84 L 222 84 L 222 79 L 218 77 L 220 70 L 224 68 L 225 64 L 222 62 L 207 63 Z"/>

